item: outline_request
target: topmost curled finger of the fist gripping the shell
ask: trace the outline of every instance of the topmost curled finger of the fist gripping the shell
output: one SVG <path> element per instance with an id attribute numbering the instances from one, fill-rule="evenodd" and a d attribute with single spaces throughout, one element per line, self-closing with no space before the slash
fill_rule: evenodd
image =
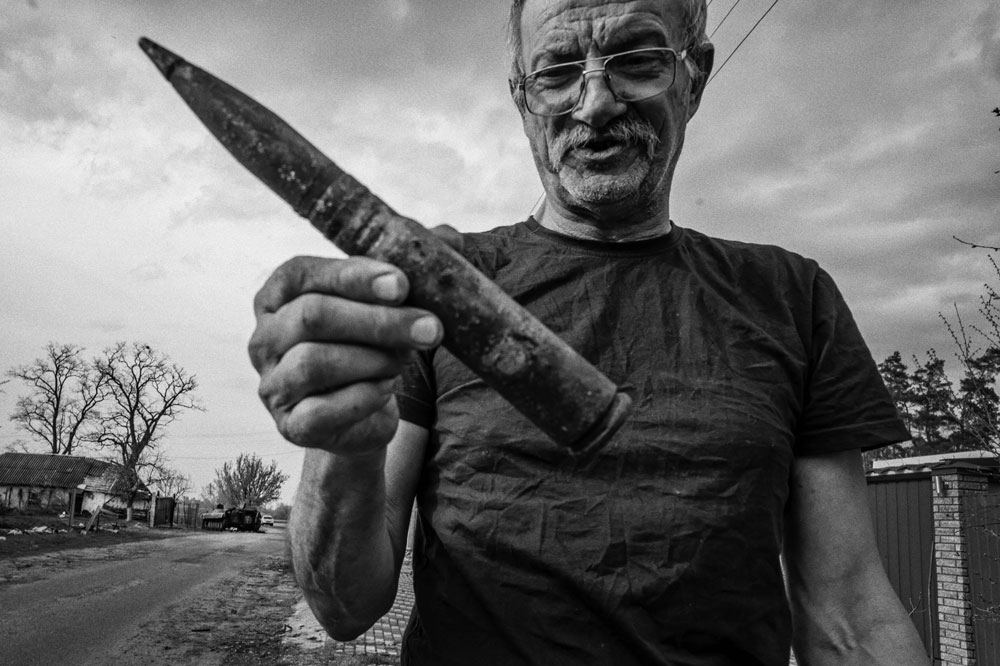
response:
<path id="1" fill-rule="evenodd" d="M 254 314 L 277 312 L 301 294 L 342 296 L 366 303 L 402 303 L 410 285 L 401 270 L 367 257 L 295 257 L 278 267 L 254 297 Z"/>

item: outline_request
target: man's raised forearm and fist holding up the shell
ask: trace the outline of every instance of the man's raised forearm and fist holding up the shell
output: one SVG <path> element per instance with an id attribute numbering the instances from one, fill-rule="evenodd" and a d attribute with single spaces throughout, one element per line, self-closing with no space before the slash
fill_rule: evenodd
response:
<path id="1" fill-rule="evenodd" d="M 393 385 L 441 323 L 401 305 L 396 268 L 297 258 L 254 301 L 250 358 L 281 434 L 308 449 L 290 532 L 296 578 L 336 638 L 392 604 L 427 431 L 399 420 Z"/>

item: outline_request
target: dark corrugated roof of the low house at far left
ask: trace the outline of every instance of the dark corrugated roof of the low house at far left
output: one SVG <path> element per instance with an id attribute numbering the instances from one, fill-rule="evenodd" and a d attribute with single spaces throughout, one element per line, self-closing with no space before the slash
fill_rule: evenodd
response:
<path id="1" fill-rule="evenodd" d="M 81 484 L 88 490 L 121 489 L 115 465 L 104 460 L 51 453 L 0 454 L 0 486 L 78 488 Z M 143 485 L 140 494 L 145 491 Z"/>

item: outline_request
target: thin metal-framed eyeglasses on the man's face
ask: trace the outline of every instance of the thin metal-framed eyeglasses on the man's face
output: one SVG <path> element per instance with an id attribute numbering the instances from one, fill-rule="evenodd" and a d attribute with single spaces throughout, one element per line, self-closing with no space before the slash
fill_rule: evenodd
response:
<path id="1" fill-rule="evenodd" d="M 674 84 L 677 62 L 687 57 L 663 48 L 636 49 L 588 60 L 576 60 L 542 67 L 511 82 L 514 90 L 524 93 L 524 105 L 536 116 L 561 116 L 570 113 L 583 99 L 587 75 L 604 74 L 608 89 L 619 102 L 638 102 L 655 97 Z M 594 61 L 600 67 L 587 69 Z"/>

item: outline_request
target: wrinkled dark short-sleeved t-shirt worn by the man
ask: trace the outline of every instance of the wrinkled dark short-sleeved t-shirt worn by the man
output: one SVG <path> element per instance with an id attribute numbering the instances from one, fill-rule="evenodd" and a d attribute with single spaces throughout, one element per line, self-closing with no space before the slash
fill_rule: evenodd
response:
<path id="1" fill-rule="evenodd" d="M 410 367 L 401 415 L 431 437 L 403 663 L 786 666 L 793 458 L 908 438 L 830 277 L 678 227 L 529 219 L 465 253 L 633 411 L 581 462 L 443 348 Z"/>

